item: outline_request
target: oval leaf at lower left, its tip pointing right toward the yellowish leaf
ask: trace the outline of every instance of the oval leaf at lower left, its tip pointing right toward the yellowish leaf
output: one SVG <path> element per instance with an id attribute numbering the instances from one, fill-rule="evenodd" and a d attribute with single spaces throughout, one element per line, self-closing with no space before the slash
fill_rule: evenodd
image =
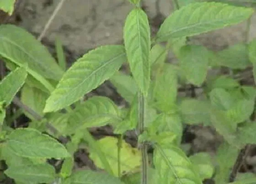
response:
<path id="1" fill-rule="evenodd" d="M 31 128 L 19 128 L 7 137 L 7 146 L 27 158 L 67 158 L 70 154 L 58 141 Z"/>

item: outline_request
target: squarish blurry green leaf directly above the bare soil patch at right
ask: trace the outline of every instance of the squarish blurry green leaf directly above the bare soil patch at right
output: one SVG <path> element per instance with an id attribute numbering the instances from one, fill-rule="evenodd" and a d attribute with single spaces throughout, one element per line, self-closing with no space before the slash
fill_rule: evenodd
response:
<path id="1" fill-rule="evenodd" d="M 210 124 L 210 103 L 206 100 L 185 99 L 181 101 L 181 117 L 186 124 Z"/>

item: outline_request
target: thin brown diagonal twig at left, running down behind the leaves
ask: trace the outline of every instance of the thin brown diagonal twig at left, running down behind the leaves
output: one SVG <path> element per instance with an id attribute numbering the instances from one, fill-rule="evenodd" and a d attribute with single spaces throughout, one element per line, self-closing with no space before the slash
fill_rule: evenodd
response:
<path id="1" fill-rule="evenodd" d="M 23 104 L 19 98 L 17 98 L 16 96 L 14 97 L 14 99 L 12 100 L 12 102 L 17 105 L 18 107 L 20 107 L 23 110 L 26 110 L 31 116 L 33 116 L 37 121 L 41 121 L 43 120 L 43 117 L 40 116 L 39 114 L 37 114 L 37 112 L 35 112 L 34 110 L 32 110 L 31 108 L 29 108 L 27 105 Z M 52 126 L 50 123 L 46 123 L 46 127 L 49 129 L 49 131 L 53 132 L 53 134 L 58 135 L 59 131 Z M 66 137 L 63 136 L 59 136 L 59 140 L 61 142 L 63 142 L 64 144 L 67 143 L 69 140 Z"/>

